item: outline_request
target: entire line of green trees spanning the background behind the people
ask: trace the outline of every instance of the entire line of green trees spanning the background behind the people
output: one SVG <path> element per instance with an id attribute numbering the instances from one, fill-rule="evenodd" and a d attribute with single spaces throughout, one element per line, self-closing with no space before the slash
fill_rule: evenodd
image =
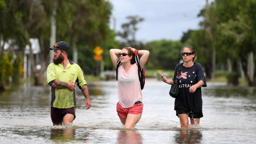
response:
<path id="1" fill-rule="evenodd" d="M 206 76 L 214 78 L 219 65 L 228 69 L 230 83 L 237 84 L 240 64 L 248 85 L 256 85 L 255 36 L 256 0 L 215 0 L 201 9 L 203 17 L 199 30 L 183 33 L 180 40 L 157 40 L 141 42 L 136 40 L 137 25 L 144 19 L 139 16 L 127 17 L 122 31 L 115 32 L 109 27 L 112 5 L 107 0 L 0 0 L 0 89 L 8 83 L 19 82 L 22 74 L 24 47 L 30 45 L 30 38 L 40 41 L 40 65 L 36 68 L 35 55 L 30 50 L 31 68 L 35 85 L 43 85 L 44 72 L 50 63 L 50 37 L 52 16 L 55 14 L 56 42 L 70 44 L 68 57 L 74 59 L 85 74 L 95 74 L 96 61 L 93 49 L 104 50 L 104 69 L 114 70 L 109 49 L 136 47 L 150 51 L 147 68 L 171 69 L 182 59 L 180 49 L 185 45 L 195 47 L 198 62 L 205 69 Z M 55 12 L 55 13 L 54 13 Z M 115 38 L 119 36 L 121 40 Z M 7 54 L 4 45 L 12 40 L 18 48 L 10 47 Z M 248 57 L 253 56 L 254 76 L 248 71 Z"/>

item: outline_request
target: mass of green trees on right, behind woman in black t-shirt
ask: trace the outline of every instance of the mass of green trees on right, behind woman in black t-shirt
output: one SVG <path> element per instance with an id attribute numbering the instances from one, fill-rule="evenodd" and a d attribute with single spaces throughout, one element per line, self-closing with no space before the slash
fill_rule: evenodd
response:
<path id="1" fill-rule="evenodd" d="M 187 43 L 197 47 L 199 61 L 211 78 L 216 64 L 225 64 L 229 82 L 237 85 L 242 67 L 248 85 L 256 86 L 255 7 L 256 0 L 215 0 L 199 13 L 204 18 L 201 28 L 190 34 Z M 254 75 L 249 74 L 248 57 L 254 63 Z"/>

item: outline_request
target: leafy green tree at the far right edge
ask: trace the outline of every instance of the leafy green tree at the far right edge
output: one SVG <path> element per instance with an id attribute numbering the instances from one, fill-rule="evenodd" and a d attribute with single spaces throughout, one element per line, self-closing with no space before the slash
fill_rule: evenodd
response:
<path id="1" fill-rule="evenodd" d="M 223 52 L 232 61 L 241 61 L 244 76 L 249 86 L 253 86 L 256 85 L 255 65 L 252 79 L 248 75 L 247 67 L 249 54 L 252 52 L 254 57 L 256 56 L 256 40 L 254 40 L 256 36 L 256 0 L 247 0 L 243 5 L 237 2 L 237 5 L 239 5 L 237 6 L 239 13 L 235 18 L 218 25 L 219 40 Z M 230 47 L 232 48 L 230 49 Z"/>

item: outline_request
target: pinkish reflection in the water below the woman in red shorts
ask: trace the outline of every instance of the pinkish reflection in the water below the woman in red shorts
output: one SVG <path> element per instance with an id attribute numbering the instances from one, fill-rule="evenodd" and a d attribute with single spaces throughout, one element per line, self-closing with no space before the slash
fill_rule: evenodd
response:
<path id="1" fill-rule="evenodd" d="M 142 144 L 140 133 L 135 130 L 120 130 L 117 136 L 118 144 Z"/>

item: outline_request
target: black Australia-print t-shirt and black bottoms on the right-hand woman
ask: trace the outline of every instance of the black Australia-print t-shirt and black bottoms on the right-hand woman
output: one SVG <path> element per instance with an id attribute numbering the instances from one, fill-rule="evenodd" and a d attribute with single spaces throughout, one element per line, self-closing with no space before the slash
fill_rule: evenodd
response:
<path id="1" fill-rule="evenodd" d="M 180 64 L 177 64 L 175 67 L 173 81 L 177 78 L 179 68 Z M 180 81 L 179 95 L 175 98 L 174 110 L 183 109 L 188 112 L 189 116 L 193 116 L 194 118 L 203 117 L 201 87 L 197 88 L 193 93 L 190 93 L 189 91 L 190 87 L 198 83 L 200 80 L 204 81 L 204 85 L 202 87 L 207 86 L 201 64 L 194 62 L 194 65 L 190 68 L 182 66 L 181 75 L 178 80 Z M 178 116 L 178 114 L 176 115 Z"/>

